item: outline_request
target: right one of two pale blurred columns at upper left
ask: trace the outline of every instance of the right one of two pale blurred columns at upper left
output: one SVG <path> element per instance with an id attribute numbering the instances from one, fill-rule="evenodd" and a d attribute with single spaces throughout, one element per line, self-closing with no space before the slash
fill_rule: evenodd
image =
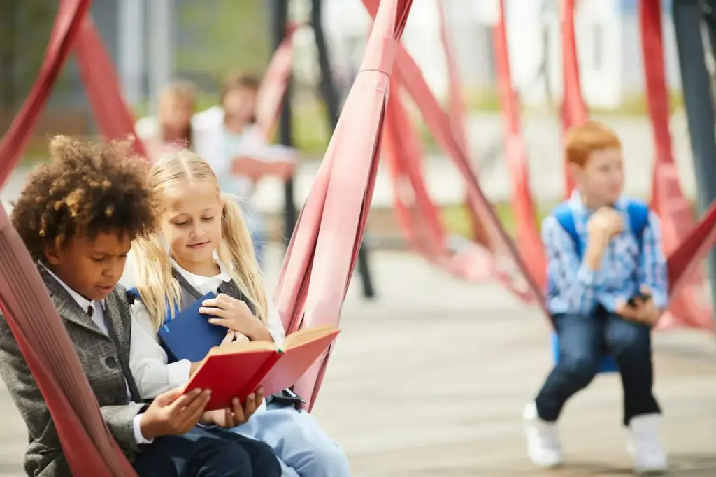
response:
<path id="1" fill-rule="evenodd" d="M 150 0 L 147 6 L 150 102 L 156 106 L 160 93 L 174 76 L 174 0 Z"/>

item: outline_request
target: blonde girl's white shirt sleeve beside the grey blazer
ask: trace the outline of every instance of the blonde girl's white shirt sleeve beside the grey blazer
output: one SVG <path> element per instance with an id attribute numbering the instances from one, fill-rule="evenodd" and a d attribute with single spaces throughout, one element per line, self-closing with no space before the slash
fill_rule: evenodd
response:
<path id="1" fill-rule="evenodd" d="M 181 360 L 168 364 L 167 353 L 159 342 L 147 307 L 138 300 L 132 305 L 131 333 L 130 370 L 142 399 L 157 397 L 189 381 L 191 362 Z"/>

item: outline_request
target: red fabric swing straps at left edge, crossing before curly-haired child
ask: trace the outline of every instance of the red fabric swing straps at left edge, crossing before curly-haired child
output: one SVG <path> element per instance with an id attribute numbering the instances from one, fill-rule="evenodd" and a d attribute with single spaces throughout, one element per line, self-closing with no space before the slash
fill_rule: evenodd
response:
<path id="1" fill-rule="evenodd" d="M 52 84 L 69 57 L 91 1 L 63 0 L 29 97 L 0 145 L 5 183 L 32 135 Z M 52 415 L 75 476 L 132 476 L 130 463 L 107 429 L 67 330 L 9 218 L 0 207 L 0 303 L 29 370 Z"/>

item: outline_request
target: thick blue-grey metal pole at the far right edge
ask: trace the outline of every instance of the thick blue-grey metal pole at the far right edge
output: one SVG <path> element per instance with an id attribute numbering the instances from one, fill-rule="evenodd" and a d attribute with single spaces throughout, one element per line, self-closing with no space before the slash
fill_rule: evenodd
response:
<path id="1" fill-rule="evenodd" d="M 713 4 L 712 0 L 709 1 Z M 679 55 L 681 84 L 686 107 L 691 150 L 697 183 L 699 213 L 706 211 L 716 198 L 716 135 L 714 103 L 709 73 L 706 69 L 702 39 L 702 6 L 699 0 L 674 0 L 672 15 Z M 711 297 L 716 303 L 716 254 L 709 260 Z"/>

